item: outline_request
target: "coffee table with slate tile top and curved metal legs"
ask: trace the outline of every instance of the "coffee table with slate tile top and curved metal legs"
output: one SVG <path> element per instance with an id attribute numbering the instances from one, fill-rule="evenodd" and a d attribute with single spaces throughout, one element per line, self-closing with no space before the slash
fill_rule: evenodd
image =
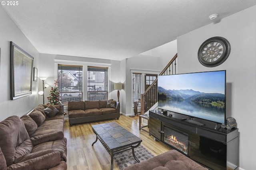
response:
<path id="1" fill-rule="evenodd" d="M 134 154 L 134 148 L 140 146 L 142 139 L 130 133 L 115 122 L 92 125 L 92 130 L 96 134 L 96 143 L 99 141 L 108 150 L 111 156 L 111 170 L 113 170 L 114 154 L 132 149 L 132 155 L 137 162 L 140 162 Z M 94 145 L 92 143 L 92 146 Z"/>

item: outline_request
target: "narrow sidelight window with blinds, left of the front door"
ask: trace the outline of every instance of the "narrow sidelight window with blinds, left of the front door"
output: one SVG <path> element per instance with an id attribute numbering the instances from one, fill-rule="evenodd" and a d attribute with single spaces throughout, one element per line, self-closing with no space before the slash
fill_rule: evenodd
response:
<path id="1" fill-rule="evenodd" d="M 140 99 L 141 94 L 141 74 L 132 73 L 132 103 Z"/>

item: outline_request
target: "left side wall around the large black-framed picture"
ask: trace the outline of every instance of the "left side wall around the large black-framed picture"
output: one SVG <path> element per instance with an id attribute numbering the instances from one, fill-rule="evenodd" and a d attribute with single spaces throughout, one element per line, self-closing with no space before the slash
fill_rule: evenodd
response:
<path id="1" fill-rule="evenodd" d="M 11 115 L 22 116 L 38 105 L 38 82 L 32 82 L 32 94 L 16 100 L 10 100 L 10 41 L 34 57 L 34 66 L 38 67 L 39 53 L 20 31 L 17 25 L 0 8 L 0 121 Z"/>

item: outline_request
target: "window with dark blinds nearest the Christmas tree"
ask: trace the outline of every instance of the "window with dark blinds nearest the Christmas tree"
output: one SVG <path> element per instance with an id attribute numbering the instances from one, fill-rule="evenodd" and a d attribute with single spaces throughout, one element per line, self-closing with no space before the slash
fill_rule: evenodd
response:
<path id="1" fill-rule="evenodd" d="M 83 66 L 58 64 L 58 88 L 62 103 L 83 100 Z"/>

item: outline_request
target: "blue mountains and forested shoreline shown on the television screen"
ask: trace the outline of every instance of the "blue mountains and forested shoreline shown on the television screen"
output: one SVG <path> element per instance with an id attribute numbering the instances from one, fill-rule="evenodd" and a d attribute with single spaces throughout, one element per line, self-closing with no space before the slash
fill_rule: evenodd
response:
<path id="1" fill-rule="evenodd" d="M 217 104 L 224 104 L 225 95 L 220 93 L 204 93 L 194 91 L 192 89 L 188 90 L 166 90 L 162 87 L 158 87 L 158 98 L 161 100 L 171 99 L 171 100 L 186 100 L 192 102 L 204 102 Z"/>

